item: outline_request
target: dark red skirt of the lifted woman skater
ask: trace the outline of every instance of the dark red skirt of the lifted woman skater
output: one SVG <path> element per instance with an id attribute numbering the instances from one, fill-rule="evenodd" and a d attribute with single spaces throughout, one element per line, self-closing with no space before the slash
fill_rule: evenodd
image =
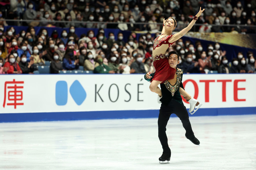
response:
<path id="1" fill-rule="evenodd" d="M 170 67 L 167 57 L 161 56 L 161 58 L 159 57 L 159 59 L 156 57 L 156 60 L 153 62 L 153 65 L 156 69 L 156 72 L 152 80 L 157 80 L 161 81 L 161 83 L 164 83 L 164 81 L 174 78 L 176 69 Z"/>

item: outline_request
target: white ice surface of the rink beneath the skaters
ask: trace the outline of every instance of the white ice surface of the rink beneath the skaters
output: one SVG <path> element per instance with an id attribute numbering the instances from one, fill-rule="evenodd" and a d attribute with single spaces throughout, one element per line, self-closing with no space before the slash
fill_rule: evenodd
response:
<path id="1" fill-rule="evenodd" d="M 157 118 L 0 123 L 0 169 L 256 169 L 256 115 L 190 121 L 201 144 L 171 117 L 170 164 L 158 161 Z"/>

